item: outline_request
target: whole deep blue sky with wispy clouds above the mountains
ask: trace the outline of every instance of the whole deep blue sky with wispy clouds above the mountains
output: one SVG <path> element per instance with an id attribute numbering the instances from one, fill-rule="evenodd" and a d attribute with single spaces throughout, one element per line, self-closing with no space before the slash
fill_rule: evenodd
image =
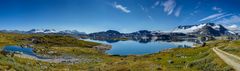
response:
<path id="1" fill-rule="evenodd" d="M 238 30 L 240 0 L 0 0 L 0 29 L 171 31 L 205 22 Z"/>

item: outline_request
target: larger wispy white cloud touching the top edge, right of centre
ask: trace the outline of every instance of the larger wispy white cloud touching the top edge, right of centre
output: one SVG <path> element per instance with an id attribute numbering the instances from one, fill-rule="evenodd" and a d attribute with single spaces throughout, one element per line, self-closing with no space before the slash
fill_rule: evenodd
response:
<path id="1" fill-rule="evenodd" d="M 176 7 L 175 0 L 167 0 L 166 2 L 161 4 L 164 7 L 164 12 L 167 12 L 168 15 L 171 15 Z"/>

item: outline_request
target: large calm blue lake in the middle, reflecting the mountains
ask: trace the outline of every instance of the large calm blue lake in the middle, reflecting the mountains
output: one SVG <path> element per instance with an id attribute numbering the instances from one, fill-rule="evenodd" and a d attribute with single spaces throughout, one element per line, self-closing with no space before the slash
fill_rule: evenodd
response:
<path id="1" fill-rule="evenodd" d="M 115 43 L 107 43 L 106 41 L 97 41 L 86 39 L 86 41 L 93 41 L 98 43 L 110 44 L 112 49 L 107 50 L 109 55 L 144 55 L 157 53 L 169 48 L 177 47 L 192 47 L 195 43 L 188 41 L 181 42 L 165 42 L 165 41 L 151 41 L 148 43 L 139 43 L 137 41 L 118 41 Z"/>

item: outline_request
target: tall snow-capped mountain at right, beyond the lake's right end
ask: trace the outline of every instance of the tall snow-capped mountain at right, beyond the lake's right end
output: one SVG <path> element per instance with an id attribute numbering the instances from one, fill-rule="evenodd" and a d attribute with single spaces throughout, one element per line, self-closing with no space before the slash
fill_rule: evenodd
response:
<path id="1" fill-rule="evenodd" d="M 200 34 L 200 35 L 234 35 L 235 33 L 229 31 L 224 26 L 214 23 L 203 23 L 198 25 L 186 25 L 178 26 L 172 31 L 173 33 L 185 33 L 185 34 Z"/>

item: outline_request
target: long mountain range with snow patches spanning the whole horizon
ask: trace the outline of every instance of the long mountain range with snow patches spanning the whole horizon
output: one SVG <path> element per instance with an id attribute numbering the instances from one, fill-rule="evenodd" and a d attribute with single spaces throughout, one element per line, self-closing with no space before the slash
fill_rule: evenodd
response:
<path id="1" fill-rule="evenodd" d="M 86 34 L 85 32 L 79 32 L 77 30 L 62 30 L 57 31 L 55 29 L 31 29 L 29 31 L 19 30 L 0 30 L 5 33 L 21 33 L 21 34 L 62 34 L 62 35 L 88 35 L 88 36 L 103 36 L 103 37 L 142 37 L 142 36 L 154 36 L 163 34 L 174 34 L 183 33 L 186 35 L 202 35 L 202 36 L 222 36 L 222 35 L 236 35 L 237 33 L 228 30 L 221 24 L 215 23 L 202 23 L 196 25 L 180 25 L 171 32 L 161 31 L 149 31 L 139 30 L 132 33 L 121 33 L 115 30 L 107 30 L 102 32 L 93 32 Z"/>

